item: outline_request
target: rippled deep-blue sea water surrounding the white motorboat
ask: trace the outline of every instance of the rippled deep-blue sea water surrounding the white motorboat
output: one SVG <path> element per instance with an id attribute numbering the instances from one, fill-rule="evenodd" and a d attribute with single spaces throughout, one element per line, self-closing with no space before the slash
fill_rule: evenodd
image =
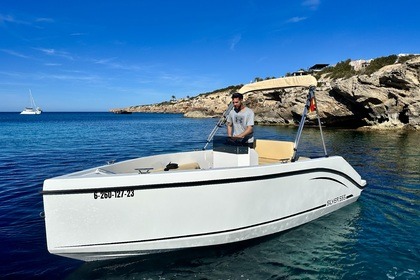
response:
<path id="1" fill-rule="evenodd" d="M 360 199 L 316 221 L 245 243 L 84 263 L 49 254 L 43 181 L 156 153 L 201 149 L 215 119 L 177 114 L 0 113 L 0 278 L 420 279 L 418 132 L 324 130 L 368 181 Z M 294 140 L 296 128 L 256 126 Z M 220 130 L 222 134 L 224 128 Z M 305 129 L 302 155 L 322 155 Z"/>

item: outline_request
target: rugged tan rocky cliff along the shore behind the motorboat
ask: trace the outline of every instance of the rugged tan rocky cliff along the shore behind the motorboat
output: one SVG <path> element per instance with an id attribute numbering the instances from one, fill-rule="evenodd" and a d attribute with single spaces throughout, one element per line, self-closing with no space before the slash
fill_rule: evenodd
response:
<path id="1" fill-rule="evenodd" d="M 373 129 L 420 129 L 420 57 L 384 66 L 371 74 L 348 78 L 319 74 L 316 96 L 325 126 Z M 130 112 L 183 113 L 186 117 L 218 117 L 227 108 L 231 87 L 193 98 L 123 108 Z M 246 95 L 255 121 L 265 125 L 296 125 L 307 89 L 259 91 Z M 121 108 L 120 108 L 121 109 Z M 114 110 L 120 110 L 114 109 Z M 111 110 L 112 111 L 112 110 Z M 314 116 L 309 115 L 313 122 Z"/>

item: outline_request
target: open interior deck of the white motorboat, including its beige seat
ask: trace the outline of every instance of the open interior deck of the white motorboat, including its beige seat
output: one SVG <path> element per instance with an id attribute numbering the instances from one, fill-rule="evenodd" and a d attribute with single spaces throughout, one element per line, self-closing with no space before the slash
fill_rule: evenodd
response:
<path id="1" fill-rule="evenodd" d="M 254 149 L 246 148 L 243 150 L 243 147 L 241 147 L 241 151 L 238 150 L 238 152 L 214 149 L 156 155 L 110 163 L 67 176 L 151 174 L 288 163 L 293 156 L 293 146 L 293 142 L 258 139 L 255 141 Z M 300 158 L 300 160 L 303 159 Z"/>

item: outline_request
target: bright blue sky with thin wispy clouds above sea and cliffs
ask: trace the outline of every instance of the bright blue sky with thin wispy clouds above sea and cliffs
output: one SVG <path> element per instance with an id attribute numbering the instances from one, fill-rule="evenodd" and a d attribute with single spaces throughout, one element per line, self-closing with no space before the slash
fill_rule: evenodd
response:
<path id="1" fill-rule="evenodd" d="M 420 53 L 419 0 L 2 0 L 0 111 L 108 111 Z"/>

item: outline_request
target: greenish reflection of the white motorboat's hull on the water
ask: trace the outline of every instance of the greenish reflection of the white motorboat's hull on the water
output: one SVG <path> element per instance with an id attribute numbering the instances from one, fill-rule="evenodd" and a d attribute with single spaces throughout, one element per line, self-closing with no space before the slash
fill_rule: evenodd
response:
<path id="1" fill-rule="evenodd" d="M 340 278 L 351 263 L 360 212 L 353 204 L 285 233 L 233 245 L 85 263 L 69 279 L 317 279 L 324 269 Z"/>

